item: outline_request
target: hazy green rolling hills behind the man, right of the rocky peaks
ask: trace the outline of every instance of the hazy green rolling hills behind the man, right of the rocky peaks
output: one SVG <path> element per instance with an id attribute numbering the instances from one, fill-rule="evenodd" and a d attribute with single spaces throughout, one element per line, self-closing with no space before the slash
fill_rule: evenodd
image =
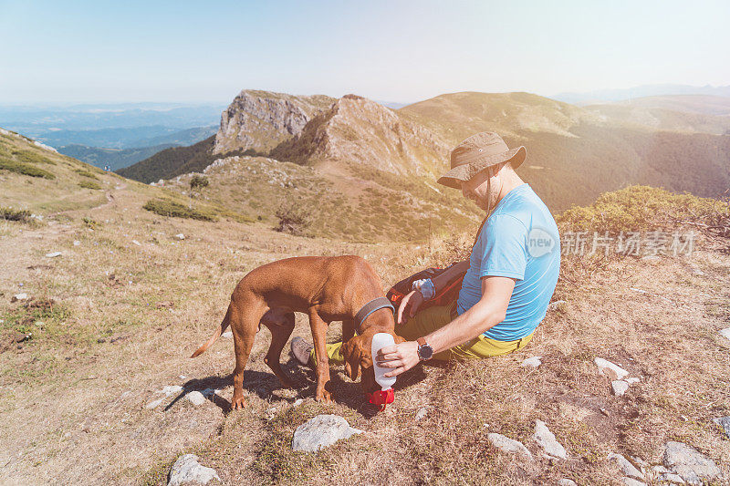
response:
<path id="1" fill-rule="evenodd" d="M 528 93 L 442 95 L 399 113 L 454 145 L 482 130 L 502 134 L 510 147 L 524 145 L 518 172 L 554 212 L 631 184 L 708 197 L 730 187 L 724 136 L 639 127 Z"/>

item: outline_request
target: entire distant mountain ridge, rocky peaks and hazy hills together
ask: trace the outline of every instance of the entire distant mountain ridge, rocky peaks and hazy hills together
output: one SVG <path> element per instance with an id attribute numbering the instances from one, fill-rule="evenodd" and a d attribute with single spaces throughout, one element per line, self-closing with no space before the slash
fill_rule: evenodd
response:
<path id="1" fill-rule="evenodd" d="M 531 93 L 464 92 L 395 110 L 356 95 L 313 98 L 244 90 L 225 110 L 213 142 L 164 150 L 120 173 L 159 181 L 234 155 L 262 156 L 311 167 L 345 193 L 371 183 L 379 191 L 407 191 L 401 181 L 417 181 L 434 196 L 458 196 L 435 184 L 449 150 L 474 132 L 492 130 L 510 146 L 527 147 L 519 173 L 554 212 L 630 184 L 708 197 L 730 187 L 727 118 L 705 114 L 721 113 L 725 98 L 579 107 Z M 239 181 L 249 198 L 252 184 Z"/>

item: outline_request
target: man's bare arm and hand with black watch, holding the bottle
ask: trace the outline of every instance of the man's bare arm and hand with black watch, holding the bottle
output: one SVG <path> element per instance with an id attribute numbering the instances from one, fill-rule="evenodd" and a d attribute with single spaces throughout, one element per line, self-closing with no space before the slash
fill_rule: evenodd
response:
<path id="1" fill-rule="evenodd" d="M 470 339 L 484 333 L 505 320 L 507 305 L 515 288 L 515 279 L 501 276 L 485 276 L 482 278 L 482 298 L 464 314 L 458 315 L 446 326 L 424 336 L 426 342 L 433 347 L 434 353 L 440 353 L 454 346 L 464 344 Z M 395 377 L 411 369 L 418 362 L 418 343 L 408 341 L 395 346 L 383 347 L 376 359 L 383 367 L 394 368 L 386 377 Z"/>

